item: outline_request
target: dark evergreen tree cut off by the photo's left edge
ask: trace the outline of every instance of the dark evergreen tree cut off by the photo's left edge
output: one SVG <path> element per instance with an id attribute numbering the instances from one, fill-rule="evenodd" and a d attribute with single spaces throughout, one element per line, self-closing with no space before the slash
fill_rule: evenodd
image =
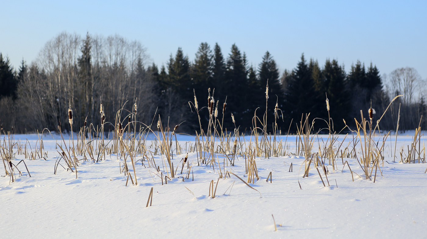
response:
<path id="1" fill-rule="evenodd" d="M 0 99 L 3 97 L 17 98 L 18 80 L 15 78 L 9 58 L 3 59 L 0 52 Z"/>

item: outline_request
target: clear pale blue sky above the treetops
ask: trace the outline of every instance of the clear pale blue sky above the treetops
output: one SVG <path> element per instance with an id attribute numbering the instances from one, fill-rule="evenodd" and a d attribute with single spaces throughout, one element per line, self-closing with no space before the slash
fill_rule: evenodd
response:
<path id="1" fill-rule="evenodd" d="M 323 65 L 377 65 L 381 75 L 414 67 L 427 78 L 427 1 L 20 1 L 0 0 L 0 52 L 18 68 L 60 32 L 139 40 L 158 66 L 181 47 L 236 43 L 258 65 L 268 50 L 281 72 L 304 53 Z"/>

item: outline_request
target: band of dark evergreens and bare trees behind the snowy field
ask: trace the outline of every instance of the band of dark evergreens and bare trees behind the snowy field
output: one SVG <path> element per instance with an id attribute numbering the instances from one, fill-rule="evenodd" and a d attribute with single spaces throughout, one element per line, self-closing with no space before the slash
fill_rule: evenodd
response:
<path id="1" fill-rule="evenodd" d="M 0 123 L 5 131 L 27 133 L 48 128 L 57 131 L 59 121 L 69 131 L 67 110 L 74 111 L 73 130 L 84 121 L 101 124 L 99 104 L 105 107 L 106 121 L 113 122 L 117 110 L 133 112 L 138 105 L 136 120 L 150 125 L 158 115 L 171 127 L 185 121 L 180 132 L 194 134 L 200 130 L 196 112 L 190 109 L 197 97 L 203 128 L 208 127 L 209 94 L 218 106 L 218 119 L 224 117 L 224 130 L 234 130 L 231 114 L 240 131 L 253 128 L 255 110 L 262 119 L 266 111 L 268 81 L 267 131 L 295 133 L 301 116 L 328 119 L 326 97 L 334 130 L 343 129 L 343 119 L 354 127 L 360 121 L 360 110 L 367 117 L 370 107 L 378 119 L 395 95 L 398 98 L 381 120 L 381 130 L 395 130 L 400 106 L 399 130 L 426 129 L 424 81 L 413 68 L 400 68 L 380 75 L 374 63 L 357 60 L 349 72 L 335 59 L 320 64 L 304 54 L 292 70 L 279 72 L 273 56 L 267 51 L 261 63 L 249 65 L 245 52 L 234 44 L 224 54 L 218 43 L 201 43 L 194 62 L 181 48 L 170 55 L 164 66 L 149 63 L 146 49 L 137 41 L 119 35 L 101 37 L 59 34 L 46 43 L 37 60 L 27 65 L 22 60 L 14 69 L 0 53 Z M 210 89 L 210 92 L 208 91 Z M 224 116 L 223 104 L 227 103 Z M 275 119 L 275 106 L 281 109 Z M 257 109 L 259 108 L 259 109 Z M 283 112 L 283 114 L 282 114 Z M 123 112 L 122 120 L 128 113 Z M 292 125 L 290 127 L 290 122 Z M 315 130 L 327 127 L 317 120 Z M 138 127 L 139 128 L 139 127 Z M 113 130 L 106 128 L 105 130 Z"/>

